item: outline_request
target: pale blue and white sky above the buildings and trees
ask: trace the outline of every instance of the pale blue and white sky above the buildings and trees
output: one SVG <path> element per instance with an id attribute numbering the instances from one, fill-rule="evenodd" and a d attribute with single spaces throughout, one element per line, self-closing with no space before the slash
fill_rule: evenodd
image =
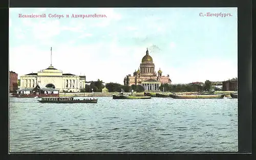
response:
<path id="1" fill-rule="evenodd" d="M 200 16 L 207 12 L 232 16 Z M 237 19 L 237 8 L 10 8 L 9 70 L 44 70 L 52 47 L 52 65 L 63 73 L 123 84 L 148 49 L 174 84 L 228 80 L 238 77 Z"/>

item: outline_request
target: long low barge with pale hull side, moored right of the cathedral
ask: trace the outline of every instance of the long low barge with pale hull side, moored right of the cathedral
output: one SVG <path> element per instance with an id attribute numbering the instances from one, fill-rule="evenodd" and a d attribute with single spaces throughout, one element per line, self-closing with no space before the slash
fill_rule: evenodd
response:
<path id="1" fill-rule="evenodd" d="M 169 95 L 174 99 L 222 99 L 224 94 L 219 95 Z"/>

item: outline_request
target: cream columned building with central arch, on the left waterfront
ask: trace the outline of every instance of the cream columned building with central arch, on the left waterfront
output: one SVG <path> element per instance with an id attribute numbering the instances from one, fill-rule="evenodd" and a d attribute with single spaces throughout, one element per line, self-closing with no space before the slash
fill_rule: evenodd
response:
<path id="1" fill-rule="evenodd" d="M 86 86 L 86 76 L 64 74 L 50 65 L 45 70 L 20 76 L 20 88 L 54 88 L 60 92 L 80 92 Z"/>

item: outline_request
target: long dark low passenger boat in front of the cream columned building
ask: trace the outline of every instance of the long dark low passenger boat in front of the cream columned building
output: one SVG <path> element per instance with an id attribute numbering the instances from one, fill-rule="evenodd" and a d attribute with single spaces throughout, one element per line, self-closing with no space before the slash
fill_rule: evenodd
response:
<path id="1" fill-rule="evenodd" d="M 40 103 L 97 103 L 98 99 L 75 99 L 74 97 L 42 97 Z"/>

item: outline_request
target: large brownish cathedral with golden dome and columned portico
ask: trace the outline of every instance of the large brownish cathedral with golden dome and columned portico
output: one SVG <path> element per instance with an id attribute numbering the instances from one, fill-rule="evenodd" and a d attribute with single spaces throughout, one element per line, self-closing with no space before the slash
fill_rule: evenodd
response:
<path id="1" fill-rule="evenodd" d="M 145 90 L 158 90 L 159 86 L 164 83 L 172 83 L 169 75 L 162 76 L 162 71 L 156 73 L 155 64 L 153 63 L 153 58 L 148 54 L 146 50 L 146 55 L 142 58 L 140 67 L 132 75 L 127 75 L 124 78 L 124 85 L 142 85 Z"/>

